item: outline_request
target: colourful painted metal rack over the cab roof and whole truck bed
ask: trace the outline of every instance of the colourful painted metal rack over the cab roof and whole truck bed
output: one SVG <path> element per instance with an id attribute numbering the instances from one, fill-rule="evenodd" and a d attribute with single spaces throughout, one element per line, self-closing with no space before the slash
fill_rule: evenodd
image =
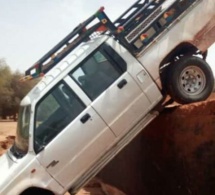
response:
<path id="1" fill-rule="evenodd" d="M 101 7 L 26 70 L 26 76 L 21 80 L 43 76 L 78 45 L 98 34 L 114 37 L 133 55 L 137 55 L 188 7 L 198 1 L 200 0 L 171 0 L 171 4 L 164 9 L 162 6 L 168 3 L 168 0 L 138 0 L 115 22 L 111 22 L 104 12 L 104 7 Z"/>

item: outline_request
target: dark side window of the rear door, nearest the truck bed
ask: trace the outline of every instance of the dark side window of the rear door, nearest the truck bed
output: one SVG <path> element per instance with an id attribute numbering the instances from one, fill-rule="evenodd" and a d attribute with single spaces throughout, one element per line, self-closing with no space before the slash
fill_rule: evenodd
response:
<path id="1" fill-rule="evenodd" d="M 94 100 L 125 70 L 125 61 L 109 46 L 103 45 L 72 71 L 70 76 Z"/>

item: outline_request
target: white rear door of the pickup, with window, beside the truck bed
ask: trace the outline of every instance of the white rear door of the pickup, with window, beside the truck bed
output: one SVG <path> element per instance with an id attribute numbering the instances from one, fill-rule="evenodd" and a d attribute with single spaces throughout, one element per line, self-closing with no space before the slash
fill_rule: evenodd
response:
<path id="1" fill-rule="evenodd" d="M 128 68 L 129 64 L 103 44 L 70 73 L 116 136 L 131 129 L 151 106 Z"/>

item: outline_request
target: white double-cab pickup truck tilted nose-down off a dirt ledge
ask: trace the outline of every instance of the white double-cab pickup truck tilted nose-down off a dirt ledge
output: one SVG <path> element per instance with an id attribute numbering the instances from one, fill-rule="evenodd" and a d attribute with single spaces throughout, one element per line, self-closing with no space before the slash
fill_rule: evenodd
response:
<path id="1" fill-rule="evenodd" d="M 23 80 L 45 75 L 21 102 L 15 143 L 0 158 L 0 194 L 75 194 L 166 95 L 206 99 L 214 10 L 214 0 L 139 0 L 114 23 L 101 8 L 77 26 L 26 71 Z"/>

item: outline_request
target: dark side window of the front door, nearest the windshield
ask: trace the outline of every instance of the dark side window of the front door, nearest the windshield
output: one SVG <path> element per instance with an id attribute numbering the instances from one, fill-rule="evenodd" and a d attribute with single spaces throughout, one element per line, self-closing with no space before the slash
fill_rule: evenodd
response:
<path id="1" fill-rule="evenodd" d="M 64 82 L 54 87 L 36 106 L 36 152 L 56 137 L 84 109 L 84 104 Z"/>

